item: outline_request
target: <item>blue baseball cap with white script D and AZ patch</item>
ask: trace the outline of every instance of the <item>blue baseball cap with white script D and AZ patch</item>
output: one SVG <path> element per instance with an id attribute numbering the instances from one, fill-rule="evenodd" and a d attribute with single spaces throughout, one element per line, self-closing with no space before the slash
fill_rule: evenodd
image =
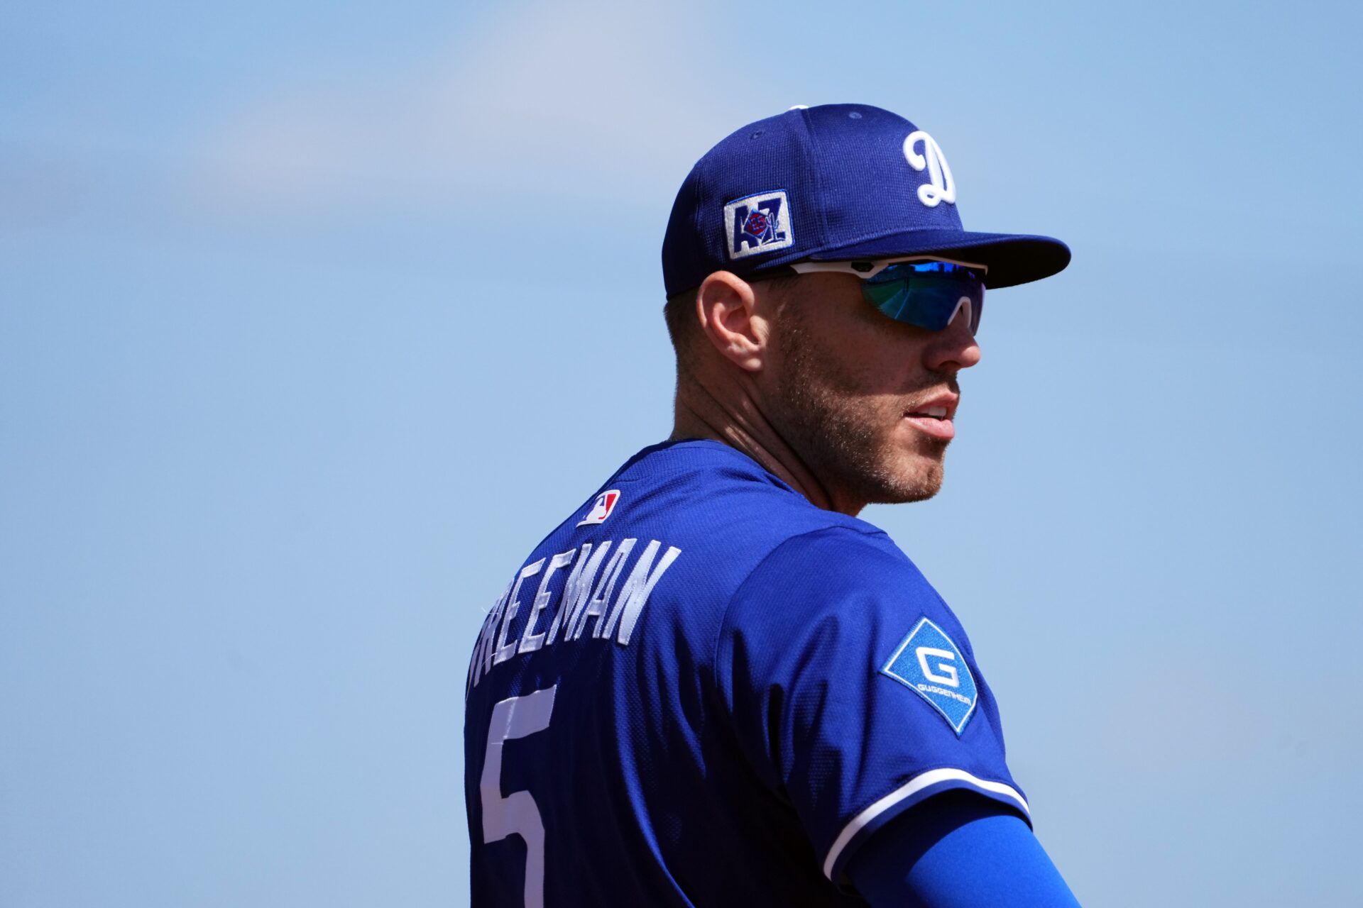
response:
<path id="1" fill-rule="evenodd" d="M 1070 263 L 1052 237 L 961 226 L 940 146 L 864 103 L 791 108 L 731 133 L 687 174 L 662 238 L 667 294 L 714 271 L 761 276 L 793 261 L 939 255 L 988 267 L 985 286 Z"/>

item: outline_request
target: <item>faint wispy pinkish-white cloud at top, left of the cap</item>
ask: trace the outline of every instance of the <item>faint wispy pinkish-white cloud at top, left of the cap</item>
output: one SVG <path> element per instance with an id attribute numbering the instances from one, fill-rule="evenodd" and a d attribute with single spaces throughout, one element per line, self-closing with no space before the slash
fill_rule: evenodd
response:
<path id="1" fill-rule="evenodd" d="M 725 76 L 698 60 L 692 30 L 675 7 L 545 3 L 397 71 L 281 84 L 204 137 L 196 193 L 324 212 L 491 189 L 627 199 L 660 173 L 671 191 L 705 148 L 763 113 L 724 102 Z"/>

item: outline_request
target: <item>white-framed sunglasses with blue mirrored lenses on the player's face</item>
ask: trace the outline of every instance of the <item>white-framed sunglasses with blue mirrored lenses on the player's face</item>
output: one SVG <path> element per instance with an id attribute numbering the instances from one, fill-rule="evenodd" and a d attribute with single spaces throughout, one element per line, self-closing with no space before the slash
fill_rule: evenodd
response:
<path id="1" fill-rule="evenodd" d="M 942 331 L 966 309 L 970 334 L 980 329 L 984 310 L 984 265 L 945 259 L 880 261 L 797 261 L 796 274 L 849 274 L 861 282 L 861 295 L 872 306 L 905 324 Z"/>

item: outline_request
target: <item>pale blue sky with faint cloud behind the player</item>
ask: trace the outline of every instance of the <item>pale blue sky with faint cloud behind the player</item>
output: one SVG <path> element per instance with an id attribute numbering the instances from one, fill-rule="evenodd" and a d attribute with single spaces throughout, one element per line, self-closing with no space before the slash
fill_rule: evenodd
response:
<path id="1" fill-rule="evenodd" d="M 466 653 L 669 430 L 672 196 L 845 101 L 1074 249 L 991 295 L 943 493 L 864 515 L 1043 843 L 1086 904 L 1359 901 L 1359 18 L 7 11 L 0 904 L 466 904 Z"/>

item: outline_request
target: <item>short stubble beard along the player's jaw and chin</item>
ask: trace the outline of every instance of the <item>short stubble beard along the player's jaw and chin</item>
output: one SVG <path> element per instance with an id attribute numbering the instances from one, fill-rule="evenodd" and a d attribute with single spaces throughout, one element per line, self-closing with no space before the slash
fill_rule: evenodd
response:
<path id="1" fill-rule="evenodd" d="M 786 306 L 780 324 L 784 374 L 773 415 L 780 432 L 830 493 L 864 504 L 931 498 L 942 487 L 947 441 L 912 433 L 912 449 L 895 436 L 906 426 L 898 395 L 866 391 L 866 383 L 819 347 Z M 792 317 L 793 316 L 793 317 Z M 932 384 L 942 384 L 936 377 Z M 951 381 L 954 385 L 954 381 Z"/>

